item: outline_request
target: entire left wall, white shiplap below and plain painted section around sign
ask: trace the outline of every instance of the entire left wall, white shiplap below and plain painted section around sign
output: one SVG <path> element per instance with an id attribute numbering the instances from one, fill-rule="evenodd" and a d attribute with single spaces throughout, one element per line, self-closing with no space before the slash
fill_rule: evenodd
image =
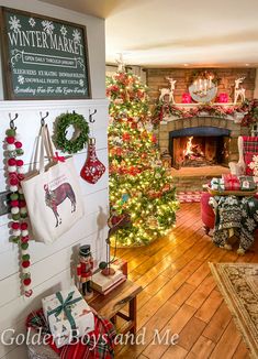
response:
<path id="1" fill-rule="evenodd" d="M 80 23 L 87 26 L 89 50 L 89 67 L 92 100 L 58 101 L 3 101 L 3 76 L 0 70 L 0 141 L 4 139 L 9 127 L 9 113 L 19 113 L 18 132 L 23 142 L 25 167 L 29 166 L 35 137 L 41 126 L 40 112 L 49 112 L 46 119 L 52 132 L 55 118 L 66 111 L 75 110 L 89 118 L 89 110 L 98 110 L 93 124 L 97 139 L 97 154 L 106 166 L 106 172 L 96 185 L 80 178 L 83 194 L 85 217 L 55 243 L 46 246 L 32 241 L 30 243 L 31 273 L 34 295 L 24 298 L 20 295 L 20 265 L 16 244 L 9 242 L 8 216 L 0 217 L 0 336 L 5 328 L 14 328 L 16 336 L 24 333 L 24 320 L 27 314 L 41 307 L 41 298 L 55 291 L 68 287 L 74 283 L 74 269 L 77 261 L 78 247 L 91 244 L 97 261 L 105 257 L 106 216 L 109 206 L 108 193 L 108 101 L 105 98 L 104 66 L 104 20 L 82 13 L 76 13 L 37 0 L 0 0 L 0 6 L 31 11 L 48 17 Z M 1 54 L 0 54 L 1 55 Z M 0 56 L 1 57 L 1 56 Z M 1 142 L 2 143 L 2 142 Z M 87 149 L 75 155 L 79 176 L 87 157 Z M 3 171 L 3 148 L 0 148 L 0 192 L 5 191 Z M 25 359 L 25 346 L 3 346 L 0 344 L 0 358 Z"/>

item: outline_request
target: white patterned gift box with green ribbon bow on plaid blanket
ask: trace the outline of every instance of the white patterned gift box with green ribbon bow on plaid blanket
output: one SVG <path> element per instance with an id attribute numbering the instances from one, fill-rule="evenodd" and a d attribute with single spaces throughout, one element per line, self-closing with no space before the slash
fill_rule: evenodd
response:
<path id="1" fill-rule="evenodd" d="M 93 313 L 76 286 L 43 298 L 42 305 L 57 348 L 94 329 Z"/>

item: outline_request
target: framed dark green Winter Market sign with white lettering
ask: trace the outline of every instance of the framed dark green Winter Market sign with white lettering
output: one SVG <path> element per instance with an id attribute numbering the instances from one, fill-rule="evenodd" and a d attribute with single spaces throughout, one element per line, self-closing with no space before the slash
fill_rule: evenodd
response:
<path id="1" fill-rule="evenodd" d="M 5 99 L 90 98 L 86 28 L 1 8 Z"/>

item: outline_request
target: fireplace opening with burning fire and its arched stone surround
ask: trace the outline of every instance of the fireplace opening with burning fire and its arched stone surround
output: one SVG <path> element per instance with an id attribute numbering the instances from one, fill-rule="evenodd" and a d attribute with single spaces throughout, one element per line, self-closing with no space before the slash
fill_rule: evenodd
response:
<path id="1" fill-rule="evenodd" d="M 242 134 L 239 121 L 232 116 L 168 117 L 159 126 L 159 148 L 161 153 L 169 153 L 176 168 L 227 166 L 238 161 L 237 139 Z"/>

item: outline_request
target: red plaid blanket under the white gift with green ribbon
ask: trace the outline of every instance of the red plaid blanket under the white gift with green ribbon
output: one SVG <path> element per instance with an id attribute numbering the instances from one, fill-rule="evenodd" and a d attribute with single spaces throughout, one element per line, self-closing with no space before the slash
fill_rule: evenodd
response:
<path id="1" fill-rule="evenodd" d="M 41 331 L 42 339 L 44 335 L 51 334 L 43 309 L 29 315 L 26 327 Z M 112 359 L 114 358 L 115 336 L 116 331 L 113 324 L 94 313 L 94 330 L 80 338 L 79 342 L 57 349 L 53 337 L 49 337 L 47 344 L 61 359 Z"/>

